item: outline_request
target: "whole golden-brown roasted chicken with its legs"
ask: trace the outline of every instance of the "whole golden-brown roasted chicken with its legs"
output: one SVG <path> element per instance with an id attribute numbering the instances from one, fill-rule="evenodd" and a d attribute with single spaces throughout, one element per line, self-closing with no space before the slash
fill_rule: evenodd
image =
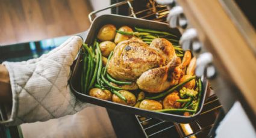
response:
<path id="1" fill-rule="evenodd" d="M 107 72 L 115 79 L 136 82 L 143 91 L 156 93 L 179 82 L 176 76 L 180 72 L 175 70 L 182 64 L 168 40 L 155 38 L 148 45 L 139 38 L 131 38 L 117 44 Z"/>

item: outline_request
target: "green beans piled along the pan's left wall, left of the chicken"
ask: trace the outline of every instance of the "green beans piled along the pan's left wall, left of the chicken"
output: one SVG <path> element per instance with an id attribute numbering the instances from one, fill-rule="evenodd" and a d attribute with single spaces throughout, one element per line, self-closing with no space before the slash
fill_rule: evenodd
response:
<path id="1" fill-rule="evenodd" d="M 95 40 L 92 47 L 83 44 L 83 71 L 81 77 L 81 88 L 83 93 L 90 91 L 92 87 L 100 89 L 108 89 L 113 94 L 117 95 L 120 99 L 126 102 L 126 98 L 118 91 L 122 90 L 117 85 L 131 85 L 132 82 L 122 82 L 115 80 L 110 74 L 107 73 L 107 66 L 102 67 L 102 53 L 99 48 L 99 43 Z M 113 52 L 108 56 L 110 61 Z M 113 85 L 117 84 L 117 85 Z"/>

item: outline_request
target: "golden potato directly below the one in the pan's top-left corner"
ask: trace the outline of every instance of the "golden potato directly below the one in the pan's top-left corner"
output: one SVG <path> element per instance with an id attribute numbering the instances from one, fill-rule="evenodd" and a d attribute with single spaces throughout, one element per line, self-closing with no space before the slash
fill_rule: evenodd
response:
<path id="1" fill-rule="evenodd" d="M 99 44 L 99 48 L 101 49 L 102 56 L 108 57 L 110 55 L 111 51 L 114 50 L 114 47 L 116 47 L 116 44 L 114 44 L 111 41 L 102 41 Z"/>

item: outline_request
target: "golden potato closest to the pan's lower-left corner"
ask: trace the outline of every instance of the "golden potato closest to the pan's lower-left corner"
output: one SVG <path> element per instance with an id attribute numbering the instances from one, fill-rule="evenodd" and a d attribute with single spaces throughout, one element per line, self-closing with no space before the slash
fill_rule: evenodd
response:
<path id="1" fill-rule="evenodd" d="M 92 88 L 90 89 L 89 95 L 92 97 L 100 98 L 103 100 L 111 100 L 112 94 L 107 89 Z"/>

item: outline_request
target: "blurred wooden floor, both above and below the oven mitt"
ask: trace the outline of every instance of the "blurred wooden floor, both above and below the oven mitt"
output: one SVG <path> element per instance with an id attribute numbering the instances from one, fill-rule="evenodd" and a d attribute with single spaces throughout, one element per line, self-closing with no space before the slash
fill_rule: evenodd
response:
<path id="1" fill-rule="evenodd" d="M 87 15 L 109 1 L 0 0 L 0 46 L 86 31 Z M 76 115 L 22 124 L 30 137 L 116 137 L 105 108 L 87 107 Z"/>

